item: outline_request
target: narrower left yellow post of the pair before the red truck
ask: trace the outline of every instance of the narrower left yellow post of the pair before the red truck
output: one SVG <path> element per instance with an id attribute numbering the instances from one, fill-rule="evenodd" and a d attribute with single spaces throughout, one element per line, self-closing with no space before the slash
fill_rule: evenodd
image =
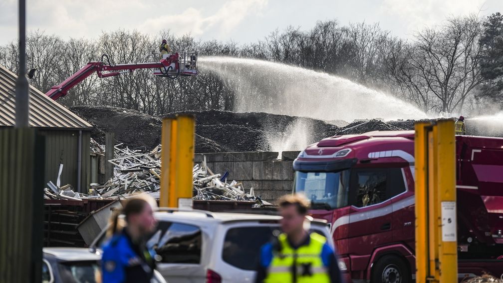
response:
<path id="1" fill-rule="evenodd" d="M 428 131 L 430 123 L 416 123 L 414 137 L 414 171 L 415 171 L 415 280 L 426 283 L 428 266 Z"/>

